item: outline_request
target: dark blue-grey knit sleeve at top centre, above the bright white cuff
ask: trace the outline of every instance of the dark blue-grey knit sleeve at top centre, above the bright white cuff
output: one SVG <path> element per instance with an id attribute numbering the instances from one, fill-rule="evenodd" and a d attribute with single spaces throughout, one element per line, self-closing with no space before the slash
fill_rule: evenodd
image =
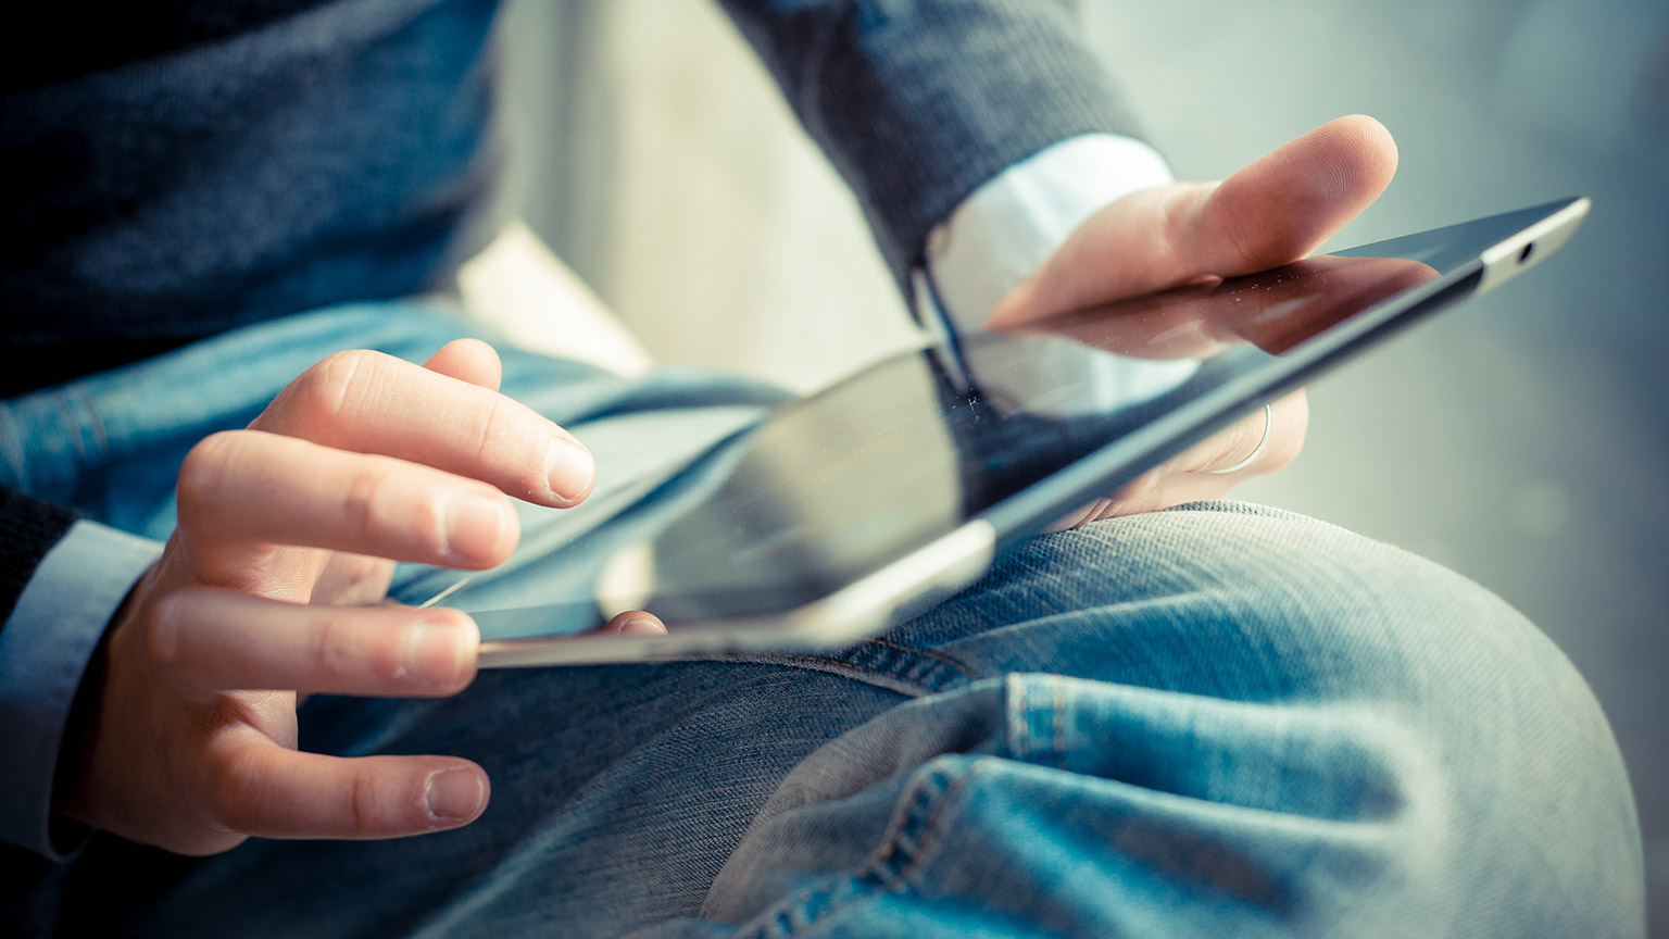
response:
<path id="1" fill-rule="evenodd" d="M 1138 135 L 1075 0 L 721 0 L 856 192 L 906 287 L 926 234 L 1005 167 Z"/>

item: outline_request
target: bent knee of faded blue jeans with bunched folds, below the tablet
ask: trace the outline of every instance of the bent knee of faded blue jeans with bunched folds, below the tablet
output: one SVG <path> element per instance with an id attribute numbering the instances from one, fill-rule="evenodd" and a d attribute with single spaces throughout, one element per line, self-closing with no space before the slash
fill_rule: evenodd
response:
<path id="1" fill-rule="evenodd" d="M 709 919 L 1644 934 L 1632 797 L 1594 697 L 1510 607 L 1392 546 L 1185 506 L 1036 538 L 883 642 L 966 682 L 799 764 Z"/>

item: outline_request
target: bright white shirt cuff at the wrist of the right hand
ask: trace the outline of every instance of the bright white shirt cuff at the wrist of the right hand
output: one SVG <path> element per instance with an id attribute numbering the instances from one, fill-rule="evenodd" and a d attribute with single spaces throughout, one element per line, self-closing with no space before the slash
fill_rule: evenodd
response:
<path id="1" fill-rule="evenodd" d="M 1070 137 L 1008 167 L 933 229 L 926 266 L 956 331 L 973 331 L 1097 209 L 1173 182 L 1153 147 L 1132 137 Z"/>

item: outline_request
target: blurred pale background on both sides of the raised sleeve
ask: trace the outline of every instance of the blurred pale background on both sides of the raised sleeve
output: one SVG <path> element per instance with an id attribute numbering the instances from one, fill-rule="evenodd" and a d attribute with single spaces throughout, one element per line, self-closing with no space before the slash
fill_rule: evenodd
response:
<path id="1" fill-rule="evenodd" d="M 706 0 L 521 0 L 524 216 L 663 363 L 818 388 L 911 341 L 858 209 Z M 1540 623 L 1599 693 L 1669 936 L 1669 3 L 1085 2 L 1148 139 L 1215 179 L 1332 117 L 1400 170 L 1337 247 L 1594 199 L 1554 259 L 1310 389 L 1238 491 L 1402 545 Z"/>

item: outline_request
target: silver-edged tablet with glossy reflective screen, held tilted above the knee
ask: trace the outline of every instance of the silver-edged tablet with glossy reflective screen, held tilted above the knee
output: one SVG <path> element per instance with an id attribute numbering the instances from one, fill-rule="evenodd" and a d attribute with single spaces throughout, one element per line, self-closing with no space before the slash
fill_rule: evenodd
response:
<path id="1" fill-rule="evenodd" d="M 648 610 L 668 635 L 547 637 L 549 607 L 472 610 L 481 667 L 786 652 L 881 632 L 1015 541 L 1534 266 L 1587 209 L 1564 199 L 885 359 L 729 441 L 574 601 L 596 622 Z"/>

